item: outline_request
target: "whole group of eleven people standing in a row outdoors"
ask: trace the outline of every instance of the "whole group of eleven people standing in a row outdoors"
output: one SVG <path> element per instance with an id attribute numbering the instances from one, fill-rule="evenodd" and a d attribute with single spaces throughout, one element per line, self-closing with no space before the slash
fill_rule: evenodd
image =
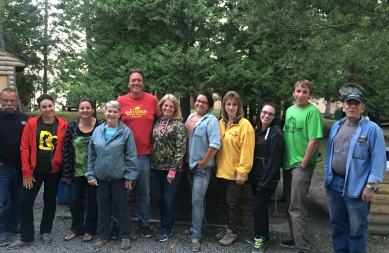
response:
<path id="1" fill-rule="evenodd" d="M 1 184 L 1 187 L 7 187 L 4 189 L 7 194 L 0 195 L 0 245 L 9 244 L 7 233 L 20 234 L 20 239 L 10 244 L 8 249 L 34 242 L 33 204 L 43 183 L 44 209 L 40 234 L 43 243 L 52 241 L 56 189 L 61 177 L 69 185 L 72 215 L 71 233 L 65 236 L 65 241 L 78 235 L 83 235 L 83 241 L 91 241 L 97 234 L 94 248 L 102 247 L 109 238 L 120 238 L 120 247 L 130 248 L 128 193 L 132 189 L 132 181 L 136 181 L 136 216 L 141 235 L 155 236 L 157 240 L 165 241 L 172 235 L 177 186 L 183 169 L 186 169 L 192 189 L 192 227 L 185 233 L 191 234 L 191 251 L 196 252 L 201 248 L 205 193 L 211 175 L 215 173 L 225 191 L 228 221 L 223 230 L 215 235 L 219 244 L 228 246 L 238 238 L 240 193 L 244 182 L 249 180 L 253 192 L 254 231 L 247 242 L 253 245 L 252 253 L 262 253 L 265 243 L 270 240 L 267 202 L 277 188 L 282 167 L 291 239 L 283 241 L 281 245 L 296 248 L 299 253 L 309 252 L 307 195 L 317 163 L 319 139 L 323 137 L 321 114 L 309 102 L 311 83 L 300 80 L 294 85 L 296 103 L 287 109 L 282 130 L 275 123 L 276 106 L 271 102 L 262 106 L 258 123 L 252 127 L 243 117 L 241 98 L 235 91 L 229 91 L 223 97 L 220 121 L 211 113 L 214 104 L 212 94 L 199 91 L 195 95 L 195 112 L 184 123 L 177 98 L 167 94 L 158 101 L 155 96 L 143 91 L 144 81 L 141 71 L 128 73 L 130 92 L 106 103 L 106 122 L 94 118 L 92 101 L 82 98 L 78 105 L 80 118 L 69 125 L 54 115 L 54 101 L 50 95 L 43 94 L 37 99 L 42 114 L 28 118 L 16 110 L 18 98 L 15 90 L 7 88 L 1 91 L 0 136 L 8 145 L 0 145 L 0 173 L 11 176 L 6 180 L 6 185 Z M 349 105 L 347 101 L 353 99 L 360 103 Z M 359 127 L 362 126 L 368 135 L 355 137 L 361 134 L 355 124 L 351 128 L 356 135 L 350 133 L 349 125 L 344 130 L 335 125 L 336 129 L 341 128 L 342 139 L 337 138 L 337 130 L 333 128 L 328 145 L 326 191 L 331 222 L 335 228 L 333 242 L 336 252 L 358 252 L 345 250 L 355 245 L 366 248 L 366 244 L 363 244 L 363 240 L 367 240 L 365 219 L 370 209 L 372 190 L 375 190 L 374 184 L 383 177 L 381 160 L 377 162 L 377 152 L 381 152 L 382 148 L 382 133 L 377 127 L 365 123 L 363 117 L 361 119 L 358 114 L 363 111 L 362 107 L 358 111 L 360 104 L 361 97 L 352 96 L 345 100 L 346 123 L 359 122 Z M 356 113 L 354 108 L 357 108 Z M 354 121 L 349 121 L 349 114 Z M 13 134 L 10 135 L 10 132 Z M 371 134 L 378 140 L 373 144 Z M 346 153 L 354 152 L 355 158 L 354 155 L 351 159 L 349 155 L 335 155 L 346 135 L 349 140 L 352 138 L 350 151 L 347 149 Z M 378 149 L 374 144 L 379 145 Z M 372 154 L 364 154 L 364 147 Z M 333 153 L 335 159 L 332 159 Z M 360 162 L 357 159 L 371 160 Z M 329 164 L 331 161 L 332 165 Z M 364 173 L 355 171 L 354 166 L 362 165 L 374 167 Z M 151 174 L 160 212 L 160 226 L 156 231 L 149 227 Z M 359 206 L 355 210 L 358 212 L 365 208 L 366 211 L 360 215 L 360 226 L 355 228 L 354 223 L 345 223 L 339 218 L 353 210 L 348 206 L 349 202 L 344 210 L 338 209 L 338 205 L 342 198 L 346 198 L 344 195 L 359 198 L 361 193 L 356 191 L 361 189 L 355 190 L 353 185 L 347 183 L 348 178 L 357 180 L 358 175 L 363 175 L 364 180 L 359 183 L 360 187 L 358 184 L 363 190 L 361 201 L 368 203 L 368 206 Z M 366 183 L 367 188 L 364 188 Z M 344 194 L 336 192 L 343 188 L 346 189 Z M 86 218 L 82 204 L 85 189 L 88 189 Z M 353 232 L 362 230 L 362 235 L 359 232 L 355 232 L 358 235 L 351 235 L 347 226 L 351 226 Z M 341 239 L 342 236 L 349 238 L 349 241 Z M 338 244 L 343 246 L 336 246 Z"/>

